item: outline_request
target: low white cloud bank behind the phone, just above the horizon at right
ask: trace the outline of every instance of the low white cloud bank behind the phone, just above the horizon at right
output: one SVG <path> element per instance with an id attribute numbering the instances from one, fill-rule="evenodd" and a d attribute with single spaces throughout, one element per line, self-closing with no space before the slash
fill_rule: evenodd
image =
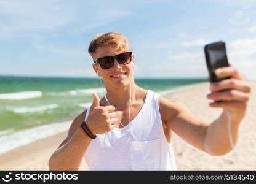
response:
<path id="1" fill-rule="evenodd" d="M 227 43 L 228 60 L 238 68 L 239 72 L 249 80 L 256 80 L 256 37 L 236 39 Z M 200 77 L 206 75 L 206 64 L 203 52 L 185 52 L 170 56 L 169 66 L 161 70 L 161 74 L 177 77 Z M 160 69 L 159 69 L 160 71 Z M 193 71 L 193 72 L 191 72 Z M 156 76 L 157 77 L 157 76 Z"/>

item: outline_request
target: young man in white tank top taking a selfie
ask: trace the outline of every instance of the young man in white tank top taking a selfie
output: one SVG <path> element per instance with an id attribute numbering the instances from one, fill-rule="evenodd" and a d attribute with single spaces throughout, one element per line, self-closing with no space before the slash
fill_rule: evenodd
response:
<path id="1" fill-rule="evenodd" d="M 210 85 L 210 107 L 222 114 L 213 122 L 195 117 L 181 102 L 168 101 L 134 82 L 135 56 L 120 33 L 97 35 L 89 46 L 92 67 L 106 86 L 106 97 L 93 94 L 92 105 L 76 117 L 68 136 L 49 161 L 51 170 L 77 170 L 85 156 L 91 170 L 176 169 L 171 134 L 210 155 L 225 155 L 236 144 L 251 87 L 233 66 L 218 69 Z M 223 91 L 225 90 L 225 91 Z M 96 137 L 97 135 L 97 137 Z"/>

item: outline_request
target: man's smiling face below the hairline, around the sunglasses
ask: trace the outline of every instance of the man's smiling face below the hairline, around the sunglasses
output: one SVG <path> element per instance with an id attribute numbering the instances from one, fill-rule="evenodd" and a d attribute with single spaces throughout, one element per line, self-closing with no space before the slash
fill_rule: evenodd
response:
<path id="1" fill-rule="evenodd" d="M 129 50 L 115 50 L 113 45 L 105 45 L 99 47 L 94 55 L 94 59 L 102 58 L 105 56 L 115 56 L 119 53 L 128 52 Z M 134 55 L 132 55 L 132 62 L 134 61 Z M 98 74 L 106 84 L 111 85 L 128 85 L 130 80 L 133 79 L 133 67 L 132 62 L 129 64 L 119 64 L 116 59 L 114 60 L 114 66 L 109 69 L 102 69 L 100 64 L 92 64 L 95 72 L 98 71 Z"/>

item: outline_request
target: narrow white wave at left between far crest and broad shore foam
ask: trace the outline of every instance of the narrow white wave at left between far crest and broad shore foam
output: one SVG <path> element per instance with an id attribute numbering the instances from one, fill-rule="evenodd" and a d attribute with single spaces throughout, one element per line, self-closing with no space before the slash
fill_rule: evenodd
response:
<path id="1" fill-rule="evenodd" d="M 57 104 L 44 105 L 39 107 L 6 107 L 6 110 L 12 111 L 14 113 L 29 113 L 29 112 L 42 112 L 47 109 L 57 108 Z"/>

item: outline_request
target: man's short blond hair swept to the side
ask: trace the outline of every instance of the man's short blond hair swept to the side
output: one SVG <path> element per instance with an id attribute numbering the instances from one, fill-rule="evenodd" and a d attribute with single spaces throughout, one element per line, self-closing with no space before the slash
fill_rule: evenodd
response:
<path id="1" fill-rule="evenodd" d="M 90 42 L 88 52 L 94 58 L 97 49 L 104 45 L 110 45 L 112 52 L 130 51 L 130 45 L 126 37 L 118 32 L 111 31 L 108 33 L 98 34 Z"/>

